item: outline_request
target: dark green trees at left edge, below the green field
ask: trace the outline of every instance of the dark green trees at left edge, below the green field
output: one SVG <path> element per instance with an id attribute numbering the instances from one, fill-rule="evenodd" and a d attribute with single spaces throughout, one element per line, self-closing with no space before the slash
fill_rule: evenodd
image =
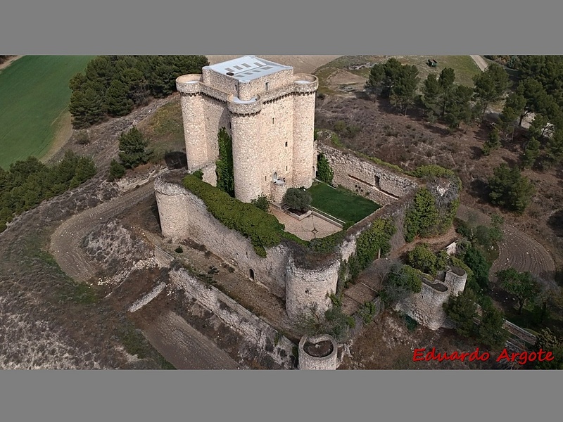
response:
<path id="1" fill-rule="evenodd" d="M 75 188 L 96 174 L 88 157 L 67 151 L 56 165 L 48 167 L 37 158 L 14 162 L 8 171 L 0 168 L 0 231 L 22 212 L 37 207 L 42 200 Z"/>

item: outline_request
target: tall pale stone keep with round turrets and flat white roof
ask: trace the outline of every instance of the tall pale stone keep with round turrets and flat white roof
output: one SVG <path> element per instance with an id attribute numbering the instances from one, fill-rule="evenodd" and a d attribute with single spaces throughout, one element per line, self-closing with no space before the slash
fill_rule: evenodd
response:
<path id="1" fill-rule="evenodd" d="M 317 77 L 256 56 L 205 66 L 176 79 L 181 94 L 188 170 L 217 184 L 217 134 L 232 137 L 234 191 L 243 202 L 281 202 L 287 188 L 315 178 L 313 141 Z"/>

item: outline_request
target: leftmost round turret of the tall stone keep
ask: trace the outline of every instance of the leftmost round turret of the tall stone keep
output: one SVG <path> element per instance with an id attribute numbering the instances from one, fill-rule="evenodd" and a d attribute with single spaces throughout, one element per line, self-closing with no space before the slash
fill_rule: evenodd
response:
<path id="1" fill-rule="evenodd" d="M 193 172 L 208 164 L 208 146 L 205 136 L 205 114 L 200 94 L 201 75 L 177 77 L 176 88 L 180 93 L 182 120 L 188 170 Z"/>

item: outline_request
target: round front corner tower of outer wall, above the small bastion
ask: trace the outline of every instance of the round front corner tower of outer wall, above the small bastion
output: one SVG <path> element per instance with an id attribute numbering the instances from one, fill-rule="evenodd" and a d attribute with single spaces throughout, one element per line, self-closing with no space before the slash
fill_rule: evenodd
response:
<path id="1" fill-rule="evenodd" d="M 289 257 L 286 281 L 286 312 L 290 319 L 297 319 L 312 306 L 324 312 L 331 306 L 329 294 L 336 293 L 339 280 L 339 260 L 324 267 L 305 269 Z"/>

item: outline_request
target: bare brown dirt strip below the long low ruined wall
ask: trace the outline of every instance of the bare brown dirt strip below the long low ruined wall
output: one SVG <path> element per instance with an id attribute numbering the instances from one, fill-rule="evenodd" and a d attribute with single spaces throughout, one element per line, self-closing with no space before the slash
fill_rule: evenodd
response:
<path id="1" fill-rule="evenodd" d="M 239 364 L 175 312 L 144 319 L 147 340 L 176 369 L 239 369 Z"/>

